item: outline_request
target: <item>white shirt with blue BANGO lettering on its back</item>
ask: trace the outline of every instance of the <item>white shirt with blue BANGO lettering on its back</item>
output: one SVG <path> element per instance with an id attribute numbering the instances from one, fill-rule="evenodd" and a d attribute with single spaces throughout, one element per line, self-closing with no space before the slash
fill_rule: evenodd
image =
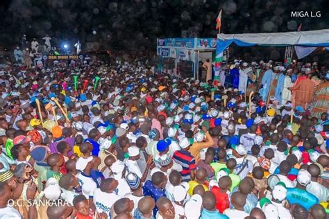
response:
<path id="1" fill-rule="evenodd" d="M 94 191 L 94 204 L 98 213 L 104 212 L 110 216 L 111 207 L 120 197 L 115 192 L 104 193 L 101 189 Z"/>

